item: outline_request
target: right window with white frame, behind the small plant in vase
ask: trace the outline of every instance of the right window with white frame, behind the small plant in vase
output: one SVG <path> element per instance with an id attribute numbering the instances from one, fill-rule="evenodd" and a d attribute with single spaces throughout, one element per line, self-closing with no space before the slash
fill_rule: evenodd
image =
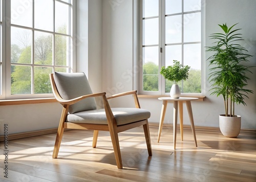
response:
<path id="1" fill-rule="evenodd" d="M 178 60 L 190 66 L 181 92 L 201 94 L 201 0 L 142 0 L 140 7 L 140 93 L 168 93 L 173 83 L 159 72 Z"/>

